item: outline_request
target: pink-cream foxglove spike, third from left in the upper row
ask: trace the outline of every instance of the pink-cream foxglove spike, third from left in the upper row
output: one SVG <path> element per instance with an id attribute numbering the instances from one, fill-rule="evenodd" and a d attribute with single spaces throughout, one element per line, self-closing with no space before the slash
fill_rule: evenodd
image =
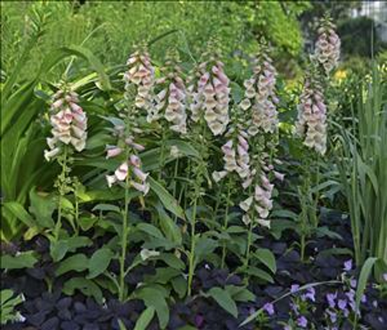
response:
<path id="1" fill-rule="evenodd" d="M 164 118 L 173 125 L 171 130 L 185 134 L 187 133 L 186 102 L 187 92 L 183 79 L 180 77 L 181 69 L 176 62 L 178 59 L 171 59 L 166 62 L 166 68 L 172 70 L 166 77 L 159 79 L 156 83 L 163 84 L 164 88 L 155 97 L 156 114 L 165 109 Z M 153 118 L 157 118 L 153 115 Z"/>

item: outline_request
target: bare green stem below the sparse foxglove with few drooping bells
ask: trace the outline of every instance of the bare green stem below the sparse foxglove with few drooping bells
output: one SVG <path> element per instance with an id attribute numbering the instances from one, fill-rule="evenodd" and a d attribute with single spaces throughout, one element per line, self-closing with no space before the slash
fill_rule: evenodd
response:
<path id="1" fill-rule="evenodd" d="M 118 298 L 120 301 L 125 299 L 125 257 L 128 246 L 128 207 L 129 207 L 129 173 L 125 180 L 125 208 L 123 211 L 122 221 L 122 243 L 121 243 L 121 256 L 120 256 L 120 290 L 118 292 Z"/>

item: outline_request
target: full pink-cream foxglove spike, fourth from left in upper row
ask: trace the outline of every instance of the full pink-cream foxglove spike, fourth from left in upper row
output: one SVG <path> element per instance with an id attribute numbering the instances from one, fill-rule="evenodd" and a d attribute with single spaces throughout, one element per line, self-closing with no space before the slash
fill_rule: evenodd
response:
<path id="1" fill-rule="evenodd" d="M 201 111 L 204 110 L 204 119 L 214 135 L 223 134 L 229 123 L 230 88 L 223 67 L 224 64 L 215 58 L 201 63 L 197 72 L 197 84 L 189 87 L 192 96 L 192 120 L 198 121 Z"/>

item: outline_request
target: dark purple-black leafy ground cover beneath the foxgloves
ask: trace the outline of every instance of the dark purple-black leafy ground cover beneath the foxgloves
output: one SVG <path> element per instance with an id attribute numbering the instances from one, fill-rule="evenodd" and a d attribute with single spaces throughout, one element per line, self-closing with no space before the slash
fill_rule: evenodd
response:
<path id="1" fill-rule="evenodd" d="M 343 238 L 314 238 L 308 245 L 307 255 L 310 257 L 308 263 L 300 261 L 300 255 L 296 248 L 291 248 L 297 240 L 292 232 L 284 232 L 283 238 L 276 241 L 271 237 L 265 238 L 260 244 L 269 248 L 276 255 L 277 273 L 274 284 L 255 285 L 250 289 L 256 294 L 255 303 L 238 304 L 239 317 L 235 320 L 231 315 L 219 307 L 212 299 L 196 298 L 192 301 L 177 302 L 170 306 L 170 322 L 168 329 L 177 330 L 185 325 L 192 325 L 198 329 L 238 329 L 238 325 L 252 312 L 262 307 L 265 303 L 289 292 L 292 285 L 308 284 L 340 278 L 343 273 L 343 265 L 350 257 L 348 255 L 324 255 L 320 251 L 329 248 L 352 248 L 351 230 L 348 220 L 342 219 L 340 214 L 329 214 L 322 219 L 321 225 L 329 226 L 331 231 L 341 235 Z M 43 254 L 41 267 L 27 271 L 14 270 L 9 273 L 2 272 L 2 289 L 12 288 L 16 292 L 22 292 L 26 301 L 19 305 L 18 310 L 26 318 L 23 323 L 9 324 L 4 330 L 118 330 L 118 319 L 121 319 L 127 329 L 134 328 L 144 304 L 142 301 L 129 301 L 125 304 L 116 299 L 108 299 L 104 306 L 99 306 L 93 299 L 87 298 L 81 293 L 72 297 L 60 293 L 61 282 L 57 281 L 53 286 L 53 293 L 47 292 L 45 277 L 53 277 L 53 267 L 47 256 L 48 244 L 43 238 L 34 242 L 35 250 Z M 232 260 L 229 260 L 232 263 Z M 144 273 L 149 269 L 137 269 L 128 277 L 128 284 L 136 284 L 141 281 Z M 151 271 L 151 270 L 150 270 Z M 356 276 L 355 270 L 349 270 L 347 277 Z M 225 284 L 241 284 L 240 277 L 229 275 L 226 270 L 213 269 L 211 265 L 202 265 L 196 272 L 194 281 L 194 292 L 206 291 L 213 286 L 224 286 Z M 350 290 L 349 287 L 340 285 L 323 285 L 315 287 L 313 299 L 306 299 L 310 303 L 310 313 L 307 317 L 310 323 L 313 321 L 317 329 L 325 329 L 324 314 L 328 308 L 326 295 L 337 291 L 338 298 L 345 297 Z M 305 293 L 305 292 L 304 292 Z M 298 294 L 301 299 L 302 292 Z M 283 329 L 278 321 L 287 321 L 291 312 L 292 302 L 288 296 L 274 304 L 274 313 L 269 316 L 266 312 L 267 323 L 257 326 L 249 324 L 239 329 Z M 295 298 L 297 299 L 297 298 Z M 313 301 L 314 300 L 314 301 Z M 313 309 L 313 310 L 312 310 Z M 348 308 L 349 309 L 349 308 Z M 296 316 L 295 318 L 296 319 Z M 361 304 L 361 322 L 368 329 L 387 329 L 387 299 L 380 299 L 377 289 L 368 285 L 365 301 Z M 341 322 L 337 329 L 351 329 L 349 321 Z M 152 321 L 150 330 L 158 329 L 156 318 Z"/>

